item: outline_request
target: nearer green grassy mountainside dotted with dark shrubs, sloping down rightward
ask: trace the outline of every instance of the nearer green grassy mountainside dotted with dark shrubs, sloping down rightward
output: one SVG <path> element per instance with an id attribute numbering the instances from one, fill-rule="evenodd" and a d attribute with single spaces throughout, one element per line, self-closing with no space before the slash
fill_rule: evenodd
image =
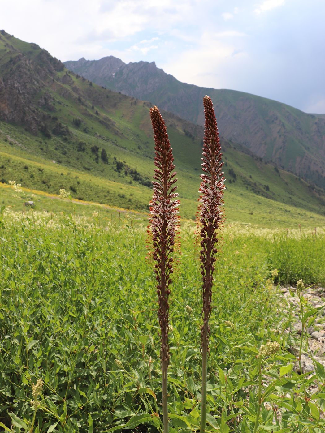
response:
<path id="1" fill-rule="evenodd" d="M 150 104 L 104 89 L 36 44 L 0 32 L 0 182 L 147 212 L 152 196 Z M 181 215 L 194 218 L 202 126 L 164 112 Z M 325 224 L 325 191 L 222 139 L 227 220 Z"/>

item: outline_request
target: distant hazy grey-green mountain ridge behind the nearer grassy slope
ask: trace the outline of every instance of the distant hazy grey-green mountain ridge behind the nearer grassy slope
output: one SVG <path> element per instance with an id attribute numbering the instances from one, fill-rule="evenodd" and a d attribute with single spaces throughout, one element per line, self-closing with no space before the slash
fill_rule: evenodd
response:
<path id="1" fill-rule="evenodd" d="M 258 157 L 325 187 L 325 117 L 289 105 L 227 89 L 178 81 L 155 62 L 125 64 L 113 56 L 66 61 L 77 74 L 111 90 L 149 100 L 193 123 L 203 125 L 202 97 L 213 100 L 221 135 Z"/>

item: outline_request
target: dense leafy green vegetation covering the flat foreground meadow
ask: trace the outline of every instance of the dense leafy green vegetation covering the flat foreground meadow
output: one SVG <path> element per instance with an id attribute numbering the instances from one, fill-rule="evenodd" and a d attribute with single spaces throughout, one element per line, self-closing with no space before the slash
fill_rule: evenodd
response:
<path id="1" fill-rule="evenodd" d="M 52 213 L 2 212 L 0 425 L 16 432 L 30 428 L 31 386 L 42 378 L 36 433 L 119 431 L 114 426 L 123 424 L 126 431 L 161 432 L 157 298 L 145 226 L 136 213 L 123 213 L 119 225 L 118 210 L 112 223 L 98 206 L 52 202 Z M 79 210 L 75 219 L 71 206 Z M 91 214 L 94 210 L 98 213 Z M 170 299 L 171 432 L 198 429 L 201 398 L 201 282 L 192 222 L 183 224 L 181 237 Z M 212 301 L 207 431 L 252 431 L 255 409 L 247 412 L 253 405 L 247 399 L 256 383 L 255 355 L 269 340 L 281 348 L 270 375 L 278 380 L 279 394 L 298 404 L 301 376 L 279 378 L 279 369 L 290 362 L 292 367 L 295 357 L 288 352 L 294 336 L 284 332 L 292 326 L 292 313 L 278 284 L 303 278 L 324 285 L 324 249 L 321 228 L 315 233 L 226 225 Z M 325 394 L 318 392 L 313 401 L 322 411 Z M 308 407 L 309 430 L 286 403 L 280 405 L 284 428 L 270 427 L 273 409 L 265 409 L 266 430 L 259 431 L 323 431 L 322 420 Z M 236 417 L 248 430 L 238 427 Z M 292 430 L 296 423 L 299 429 Z"/>

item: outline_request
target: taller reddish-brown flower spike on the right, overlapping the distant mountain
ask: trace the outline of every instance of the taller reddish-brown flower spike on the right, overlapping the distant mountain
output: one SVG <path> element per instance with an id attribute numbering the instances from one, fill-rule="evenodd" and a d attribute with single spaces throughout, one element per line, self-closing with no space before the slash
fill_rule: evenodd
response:
<path id="1" fill-rule="evenodd" d="M 209 318 L 211 314 L 212 281 L 215 255 L 218 252 L 217 230 L 223 222 L 222 206 L 224 192 L 224 173 L 221 162 L 221 145 L 218 134 L 217 120 L 211 98 L 203 98 L 205 113 L 205 132 L 203 139 L 203 158 L 201 185 L 198 206 L 198 227 L 201 237 L 201 275 L 202 285 L 202 319 L 201 326 L 201 352 L 202 352 L 202 401 L 201 401 L 201 428 L 205 432 L 206 401 L 207 401 L 207 355 L 210 335 Z"/>

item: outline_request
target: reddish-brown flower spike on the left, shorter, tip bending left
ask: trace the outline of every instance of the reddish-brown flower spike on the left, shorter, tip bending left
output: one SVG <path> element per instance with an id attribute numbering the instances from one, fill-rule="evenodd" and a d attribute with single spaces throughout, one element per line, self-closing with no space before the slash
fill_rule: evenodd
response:
<path id="1" fill-rule="evenodd" d="M 179 200 L 175 200 L 177 186 L 172 148 L 170 147 L 165 122 L 158 107 L 150 108 L 151 123 L 155 139 L 153 198 L 150 202 L 149 232 L 153 240 L 154 272 L 159 301 L 159 325 L 161 336 L 160 359 L 162 366 L 162 412 L 164 433 L 168 432 L 167 368 L 169 365 L 169 285 L 172 282 L 174 245 L 179 229 Z"/>

